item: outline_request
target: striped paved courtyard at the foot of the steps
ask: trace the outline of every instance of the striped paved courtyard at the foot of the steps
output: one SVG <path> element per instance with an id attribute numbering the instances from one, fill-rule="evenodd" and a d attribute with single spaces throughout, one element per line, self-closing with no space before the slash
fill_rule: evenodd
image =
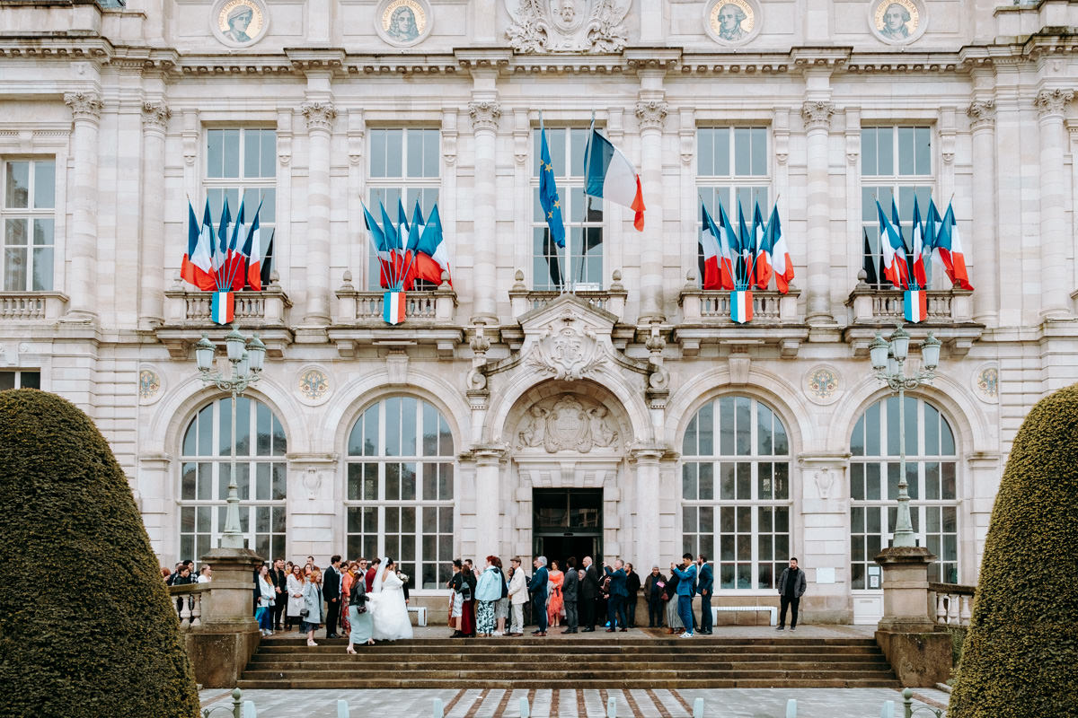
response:
<path id="1" fill-rule="evenodd" d="M 202 692 L 203 706 L 227 705 L 227 691 Z M 785 718 L 789 699 L 798 702 L 798 716 L 806 718 L 877 718 L 886 701 L 902 715 L 902 695 L 885 688 L 803 688 L 729 690 L 251 690 L 259 716 L 274 718 L 336 718 L 336 702 L 348 702 L 350 715 L 378 718 L 426 718 L 433 715 L 434 699 L 442 700 L 445 718 L 501 718 L 521 715 L 527 699 L 535 718 L 602 718 L 610 698 L 619 716 L 688 718 L 697 698 L 704 699 L 708 718 Z M 948 694 L 917 689 L 915 705 L 944 707 Z"/>

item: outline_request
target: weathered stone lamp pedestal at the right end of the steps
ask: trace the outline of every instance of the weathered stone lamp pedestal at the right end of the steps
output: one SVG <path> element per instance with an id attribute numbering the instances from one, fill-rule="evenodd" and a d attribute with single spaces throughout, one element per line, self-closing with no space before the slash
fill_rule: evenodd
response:
<path id="1" fill-rule="evenodd" d="M 951 676 L 951 636 L 928 615 L 928 564 L 936 557 L 921 546 L 880 552 L 883 618 L 875 639 L 902 686 L 934 687 Z"/>

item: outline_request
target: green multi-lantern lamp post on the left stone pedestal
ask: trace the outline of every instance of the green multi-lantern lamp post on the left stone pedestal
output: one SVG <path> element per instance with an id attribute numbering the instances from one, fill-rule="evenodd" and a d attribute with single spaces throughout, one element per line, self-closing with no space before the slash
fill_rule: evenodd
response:
<path id="1" fill-rule="evenodd" d="M 259 340 L 258 334 L 246 339 L 236 330 L 235 324 L 232 325 L 232 332 L 225 336 L 224 346 L 229 363 L 232 364 L 231 375 L 221 371 L 211 372 L 217 347 L 205 334 L 195 344 L 195 361 L 198 365 L 198 376 L 204 382 L 232 394 L 232 447 L 230 448 L 232 462 L 229 469 L 229 496 L 225 499 L 227 508 L 224 515 L 224 532 L 221 534 L 221 548 L 241 549 L 244 534 L 239 530 L 239 487 L 236 484 L 236 399 L 261 378 L 266 347 Z"/>

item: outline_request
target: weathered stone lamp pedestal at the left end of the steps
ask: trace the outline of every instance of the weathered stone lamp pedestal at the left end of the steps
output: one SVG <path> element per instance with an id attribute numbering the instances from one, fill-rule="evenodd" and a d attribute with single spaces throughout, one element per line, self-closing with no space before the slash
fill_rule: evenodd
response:
<path id="1" fill-rule="evenodd" d="M 183 635 L 195 680 L 233 688 L 261 633 L 254 620 L 254 569 L 262 557 L 250 549 L 217 548 L 202 558 L 213 567 L 203 600 L 202 624 Z"/>

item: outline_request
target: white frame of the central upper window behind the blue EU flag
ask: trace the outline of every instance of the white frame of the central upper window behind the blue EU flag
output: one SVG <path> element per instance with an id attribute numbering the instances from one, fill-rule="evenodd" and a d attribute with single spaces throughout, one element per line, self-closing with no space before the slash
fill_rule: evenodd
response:
<path id="1" fill-rule="evenodd" d="M 589 219 L 588 211 L 588 196 L 584 195 L 584 173 L 581 169 L 579 174 L 572 173 L 573 167 L 573 144 L 572 144 L 572 133 L 580 132 L 584 136 L 584 145 L 586 146 L 586 135 L 591 131 L 590 127 L 583 125 L 573 124 L 559 124 L 551 127 L 545 127 L 547 130 L 547 143 L 551 151 L 551 164 L 554 166 L 554 183 L 557 185 L 557 196 L 562 203 L 562 224 L 565 226 L 565 247 L 558 248 L 554 244 L 553 239 L 550 239 L 550 227 L 547 225 L 547 221 L 542 214 L 542 205 L 539 202 L 539 157 L 541 150 L 541 135 L 540 128 L 538 126 L 531 127 L 531 172 L 528 177 L 528 197 L 530 198 L 531 211 L 528 214 L 528 257 L 529 262 L 529 272 L 530 272 L 530 286 L 533 291 L 536 292 L 556 292 L 556 291 L 581 291 L 581 292 L 600 292 L 606 288 L 606 277 L 605 267 L 607 266 L 607 236 L 609 234 L 609 228 L 607 227 L 607 213 L 605 211 L 604 200 L 599 198 L 592 198 L 592 203 L 590 207 L 592 215 L 598 216 L 598 219 Z M 562 142 L 563 155 L 561 158 L 555 157 L 555 146 L 551 142 L 552 132 L 565 132 L 565 141 Z M 582 150 L 581 150 L 582 151 Z M 582 163 L 581 163 L 582 168 Z M 558 174 L 557 170 L 564 168 L 566 171 Z M 579 191 L 579 197 L 575 198 L 575 192 Z M 572 213 L 575 212 L 576 201 L 583 202 L 583 210 L 581 211 L 580 221 L 572 221 Z M 573 237 L 573 230 L 580 230 L 580 237 Z M 537 234 L 538 230 L 542 230 L 542 234 Z M 588 254 L 586 250 L 583 250 L 586 244 L 585 238 L 590 236 L 590 233 L 598 231 L 599 242 L 598 242 L 598 256 L 594 254 Z M 594 235 L 591 235 L 594 236 Z M 541 237 L 541 239 L 540 239 Z M 541 247 L 537 247 L 537 242 Z M 577 245 L 580 247 L 577 247 Z M 541 249 L 541 252 L 537 253 L 537 249 Z M 562 283 L 555 284 L 552 280 L 545 282 L 539 282 L 537 277 L 537 271 L 539 268 L 545 267 L 545 276 L 550 277 L 550 254 L 549 250 L 555 250 L 557 253 L 558 261 L 558 272 L 562 277 Z M 594 249 L 594 247 L 593 247 Z M 578 252 L 577 250 L 583 250 Z M 568 274 L 566 273 L 566 257 L 569 257 L 568 264 Z M 577 281 L 575 277 L 575 271 L 577 269 L 586 269 L 588 263 L 585 259 L 596 259 L 598 261 L 598 281 Z M 540 265 L 539 263 L 544 264 Z M 581 266 L 583 265 L 583 266 Z M 568 279 L 567 279 L 568 276 Z M 576 272 L 579 277 L 580 272 Z M 591 271 L 588 272 L 588 279 L 594 279 Z M 571 287 L 571 288 L 570 288 Z"/>

